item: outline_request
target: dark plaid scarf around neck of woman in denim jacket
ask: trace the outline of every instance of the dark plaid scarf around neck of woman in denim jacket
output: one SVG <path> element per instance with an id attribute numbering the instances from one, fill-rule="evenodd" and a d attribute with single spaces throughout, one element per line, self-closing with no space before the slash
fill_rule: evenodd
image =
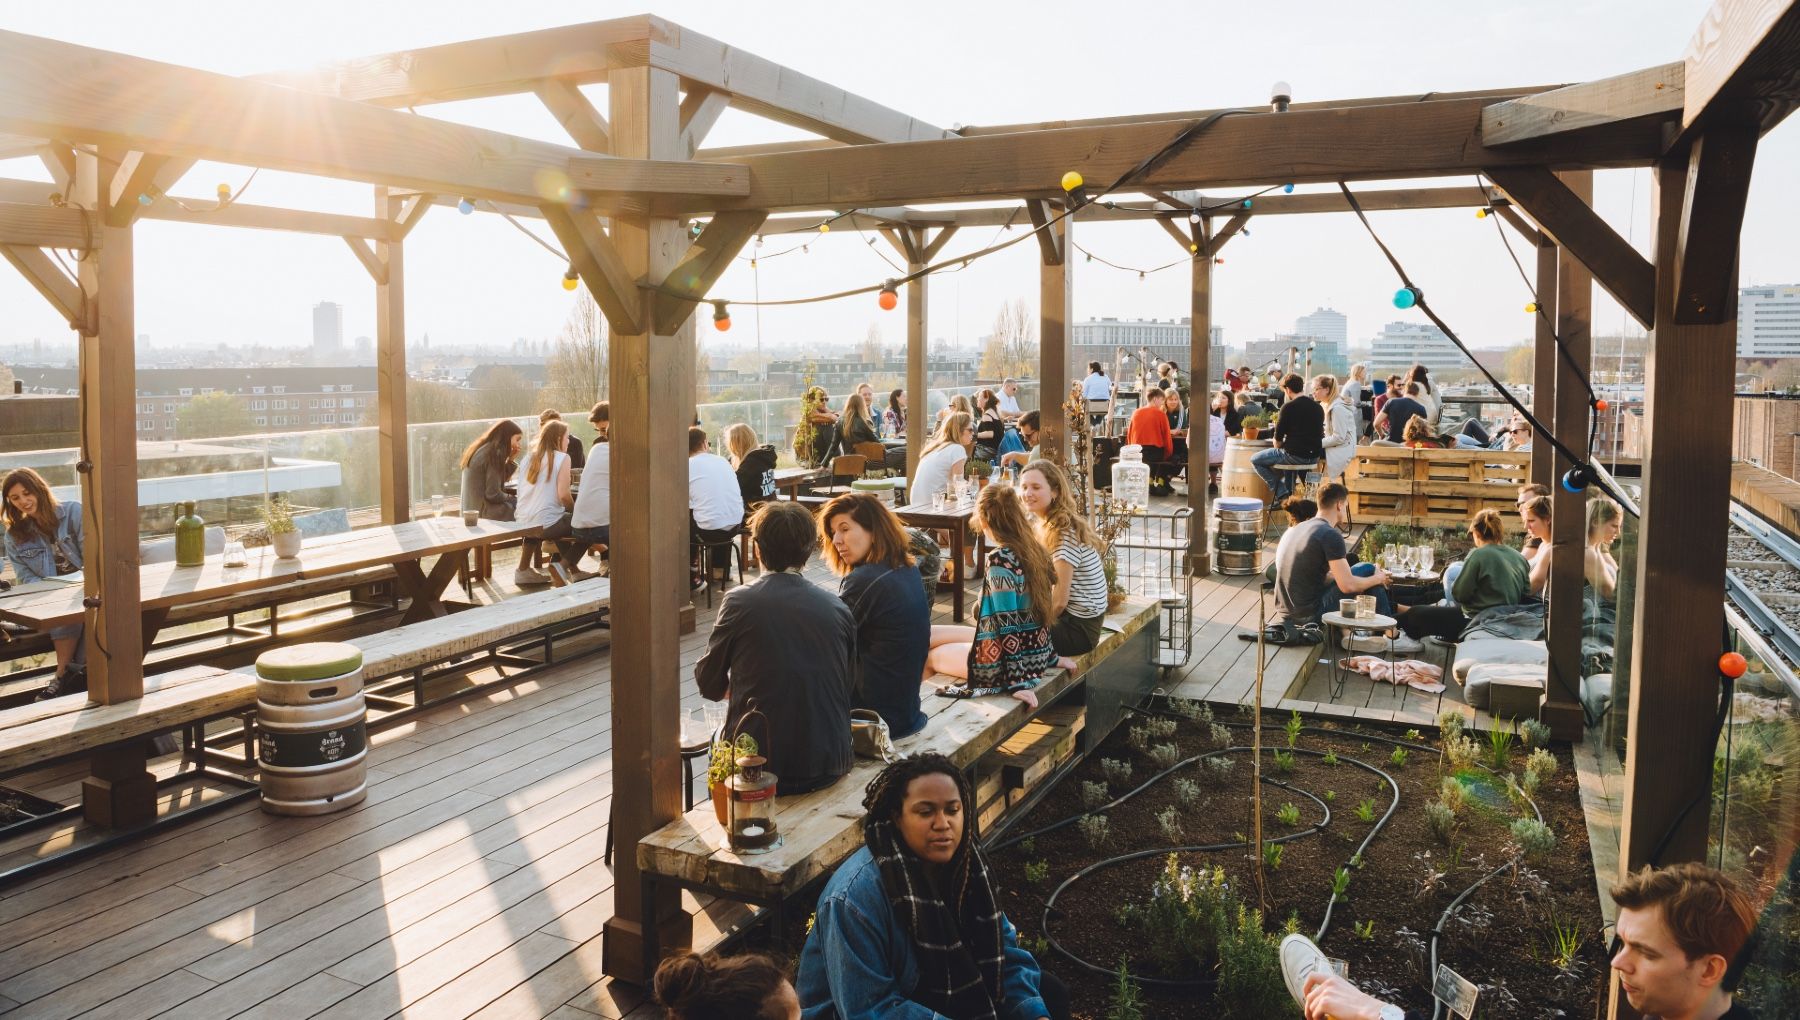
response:
<path id="1" fill-rule="evenodd" d="M 965 835 L 950 863 L 952 905 L 891 820 L 871 820 L 862 831 L 887 903 L 913 935 L 918 986 L 911 998 L 956 1020 L 988 1020 L 1001 1002 L 1001 908 L 988 883 L 986 860 L 970 838 L 972 833 Z"/>

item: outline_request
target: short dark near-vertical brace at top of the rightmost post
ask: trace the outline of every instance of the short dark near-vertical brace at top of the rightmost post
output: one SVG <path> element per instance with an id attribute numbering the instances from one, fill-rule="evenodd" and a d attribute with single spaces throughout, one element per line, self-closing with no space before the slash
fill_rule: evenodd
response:
<path id="1" fill-rule="evenodd" d="M 1737 239 L 1750 200 L 1759 130 L 1715 117 L 1688 153 L 1687 200 L 1676 243 L 1676 324 L 1735 318 Z"/>

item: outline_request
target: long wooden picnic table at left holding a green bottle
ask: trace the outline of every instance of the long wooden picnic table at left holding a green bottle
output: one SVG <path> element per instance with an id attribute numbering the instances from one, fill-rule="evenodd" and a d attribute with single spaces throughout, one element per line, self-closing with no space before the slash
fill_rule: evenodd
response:
<path id="1" fill-rule="evenodd" d="M 497 520 L 479 520 L 470 527 L 463 523 L 461 516 L 445 516 L 311 538 L 293 559 L 279 559 L 272 547 L 261 547 L 248 550 L 248 565 L 245 567 L 225 567 L 221 556 L 207 556 L 200 567 L 151 563 L 139 570 L 144 646 L 149 646 L 175 606 L 272 588 L 288 581 L 349 574 L 383 563 L 394 567 L 401 592 L 412 599 L 401 622 L 441 617 L 450 612 L 443 594 L 450 586 L 450 579 L 455 577 L 464 550 L 535 531 L 538 525 Z M 423 565 L 428 556 L 437 558 L 430 570 Z M 85 597 L 86 592 L 81 585 L 56 579 L 36 581 L 0 597 L 0 619 L 49 631 L 56 626 L 81 622 Z"/>

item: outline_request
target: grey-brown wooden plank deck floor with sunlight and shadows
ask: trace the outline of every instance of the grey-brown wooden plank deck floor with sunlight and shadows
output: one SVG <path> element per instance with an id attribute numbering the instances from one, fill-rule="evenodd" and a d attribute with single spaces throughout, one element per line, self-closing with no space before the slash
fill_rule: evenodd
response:
<path id="1" fill-rule="evenodd" d="M 810 576 L 835 586 L 817 561 Z M 1251 698 L 1255 644 L 1235 637 L 1256 622 L 1251 581 L 1195 581 L 1192 653 L 1166 689 Z M 934 608 L 949 622 L 945 594 Z M 684 667 L 711 621 L 702 601 L 698 630 L 682 640 Z M 1316 655 L 1273 649 L 1271 707 L 1310 705 L 1301 698 L 1316 694 Z M 1343 702 L 1357 703 L 1327 709 L 1420 723 L 1436 714 L 1435 702 L 1363 678 L 1350 680 Z M 689 685 L 684 707 L 697 705 Z M 612 912 L 612 872 L 601 863 L 614 783 L 608 655 L 436 709 L 371 743 L 369 799 L 353 810 L 277 819 L 236 804 L 0 890 L 0 1011 L 47 1020 L 652 1015 L 637 988 L 599 971 Z M 79 768 L 40 779 L 76 783 Z M 7 851 L 18 847 L 0 846 Z M 689 907 L 707 905 L 689 898 Z M 695 919 L 697 941 L 738 910 L 711 908 Z"/>

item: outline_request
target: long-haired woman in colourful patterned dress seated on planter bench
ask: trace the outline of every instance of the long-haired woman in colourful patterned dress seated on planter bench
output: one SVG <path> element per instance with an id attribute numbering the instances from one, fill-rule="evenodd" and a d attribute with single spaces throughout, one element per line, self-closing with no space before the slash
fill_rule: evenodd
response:
<path id="1" fill-rule="evenodd" d="M 945 698 L 1012 694 L 1037 707 L 1031 691 L 1051 666 L 1073 669 L 1049 642 L 1057 568 L 1037 538 L 1019 493 L 995 482 L 976 498 L 976 527 L 988 536 L 988 568 L 981 581 L 976 626 L 931 628 L 931 673 L 963 684 L 938 689 Z"/>

